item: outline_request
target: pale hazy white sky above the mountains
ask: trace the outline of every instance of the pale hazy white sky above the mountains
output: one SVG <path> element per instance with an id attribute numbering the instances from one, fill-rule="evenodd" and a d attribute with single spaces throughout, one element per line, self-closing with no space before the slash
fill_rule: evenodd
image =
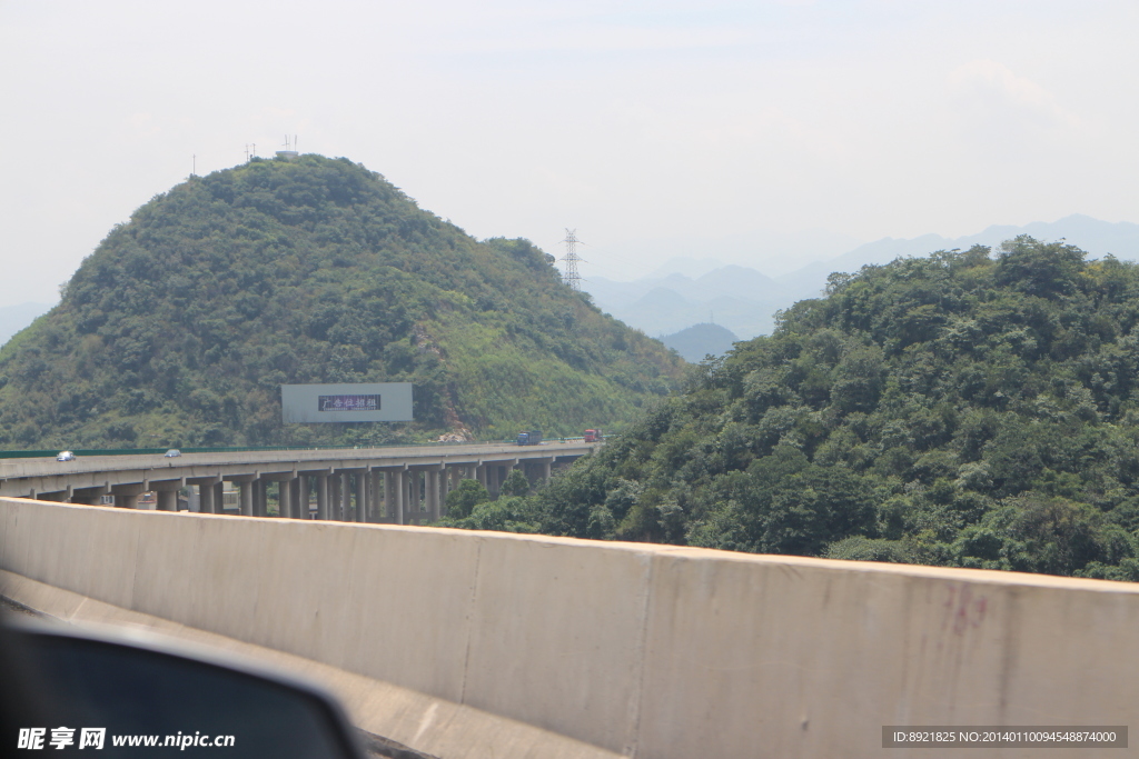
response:
<path id="1" fill-rule="evenodd" d="M 587 277 L 1139 222 L 1137 39 L 1134 0 L 0 0 L 0 305 L 286 133 L 480 238 L 576 228 Z"/>

